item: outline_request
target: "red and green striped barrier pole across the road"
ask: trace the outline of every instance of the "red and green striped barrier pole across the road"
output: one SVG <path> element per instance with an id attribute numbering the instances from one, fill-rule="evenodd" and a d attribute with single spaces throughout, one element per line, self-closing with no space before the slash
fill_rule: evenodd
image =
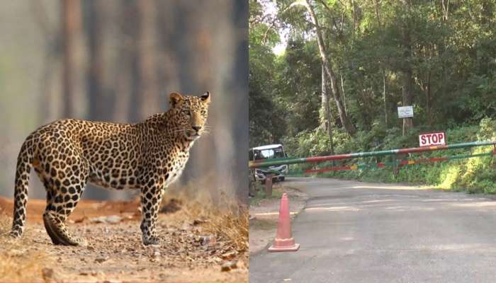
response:
<path id="1" fill-rule="evenodd" d="M 390 149 L 390 150 L 385 150 L 385 151 L 366 151 L 366 152 L 357 152 L 354 154 L 336 154 L 336 155 L 329 155 L 329 156 L 313 156 L 313 157 L 305 157 L 305 158 L 274 158 L 274 159 L 260 159 L 256 161 L 250 161 L 248 163 L 249 168 L 261 168 L 261 167 L 269 167 L 269 166 L 276 166 L 276 165 L 283 165 L 283 164 L 297 164 L 297 163 L 320 163 L 324 161 L 333 161 L 333 160 L 342 160 L 342 159 L 351 159 L 351 158 L 361 158 L 361 157 L 371 157 L 371 156 L 387 156 L 387 155 L 395 155 L 395 154 L 411 154 L 411 153 L 419 153 L 419 152 L 426 152 L 426 151 L 439 151 L 439 150 L 446 150 L 446 149 L 466 149 L 470 147 L 475 147 L 475 146 L 495 146 L 495 148 L 487 153 L 487 154 L 475 154 L 473 156 L 449 156 L 449 157 L 444 157 L 444 160 L 438 160 L 438 161 L 447 161 L 447 160 L 452 160 L 452 159 L 460 159 L 460 158 L 470 158 L 470 157 L 479 157 L 479 156 L 486 156 L 486 155 L 496 155 L 496 141 L 473 141 L 473 142 L 465 142 L 461 144 L 449 144 L 449 145 L 444 145 L 444 146 L 424 146 L 424 147 L 412 147 L 408 149 Z M 431 158 L 434 159 L 434 158 Z M 426 159 L 422 159 L 426 162 Z M 418 162 L 418 163 L 422 163 Z M 432 162 L 432 161 L 429 161 Z M 379 164 L 381 163 L 374 163 L 377 167 L 381 167 Z M 383 163 L 384 166 L 386 163 Z M 414 164 L 414 163 L 410 163 Z M 408 164 L 405 164 L 408 165 Z M 356 168 L 359 168 L 358 165 L 355 165 Z M 346 167 L 346 166 L 338 166 L 339 167 Z M 346 169 L 343 168 L 341 170 L 353 170 L 351 169 Z M 353 167 L 355 168 L 355 167 Z M 328 169 L 328 168 L 327 168 Z M 337 169 L 339 170 L 339 169 Z M 318 171 L 318 170 L 317 170 Z M 319 172 L 314 172 L 314 173 L 319 173 Z M 332 171 L 332 169 L 327 170 L 327 171 Z M 312 173 L 312 172 L 306 172 L 306 173 Z"/>

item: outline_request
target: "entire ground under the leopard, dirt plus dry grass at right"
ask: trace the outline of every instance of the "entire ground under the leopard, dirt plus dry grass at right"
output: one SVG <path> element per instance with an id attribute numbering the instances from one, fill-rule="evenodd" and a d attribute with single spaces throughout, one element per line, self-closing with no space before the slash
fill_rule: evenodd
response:
<path id="1" fill-rule="evenodd" d="M 218 272 L 216 276 L 223 276 L 218 278 L 244 282 L 248 259 L 245 216 L 247 225 L 247 214 L 184 205 L 174 213 L 160 214 L 159 246 L 143 246 L 139 221 L 128 221 L 123 214 L 84 217 L 69 224 L 74 236 L 89 242 L 86 247 L 54 246 L 43 224 L 28 224 L 22 241 L 0 238 L 0 278 L 9 282 L 160 282 L 171 274 L 190 272 L 187 282 L 201 282 L 195 275 Z M 8 230 L 11 219 L 0 216 L 0 220 L 4 221 L 0 231 Z"/>

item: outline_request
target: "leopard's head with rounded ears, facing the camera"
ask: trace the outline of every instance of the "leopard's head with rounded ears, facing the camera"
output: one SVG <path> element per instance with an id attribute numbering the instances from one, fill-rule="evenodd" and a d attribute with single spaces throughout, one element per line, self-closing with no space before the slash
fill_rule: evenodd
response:
<path id="1" fill-rule="evenodd" d="M 205 132 L 210 93 L 207 91 L 201 96 L 171 93 L 169 103 L 174 112 L 174 119 L 179 124 L 176 130 L 183 133 L 189 141 L 198 139 Z"/>

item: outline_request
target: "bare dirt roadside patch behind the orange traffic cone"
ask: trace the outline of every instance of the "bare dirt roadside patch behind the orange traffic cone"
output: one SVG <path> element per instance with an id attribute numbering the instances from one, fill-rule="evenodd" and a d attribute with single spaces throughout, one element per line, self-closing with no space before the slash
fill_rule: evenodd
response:
<path id="1" fill-rule="evenodd" d="M 298 214 L 308 200 L 308 196 L 290 187 L 288 183 L 276 183 L 273 190 L 286 192 L 289 198 L 291 218 Z M 277 198 L 264 199 L 249 207 L 249 254 L 259 253 L 274 240 L 279 216 L 279 203 Z"/>

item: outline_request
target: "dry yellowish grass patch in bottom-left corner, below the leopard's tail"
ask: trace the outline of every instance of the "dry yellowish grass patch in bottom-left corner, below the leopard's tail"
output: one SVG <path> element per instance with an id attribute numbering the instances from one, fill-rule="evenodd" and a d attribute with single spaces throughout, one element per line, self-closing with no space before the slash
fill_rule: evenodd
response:
<path id="1" fill-rule="evenodd" d="M 5 234 L 11 229 L 11 220 L 6 215 L 0 217 L 0 281 L 41 282 L 41 278 L 50 277 L 50 270 L 44 267 L 55 264 L 46 253 L 30 247 L 33 231 L 27 229 L 20 239 Z"/>

